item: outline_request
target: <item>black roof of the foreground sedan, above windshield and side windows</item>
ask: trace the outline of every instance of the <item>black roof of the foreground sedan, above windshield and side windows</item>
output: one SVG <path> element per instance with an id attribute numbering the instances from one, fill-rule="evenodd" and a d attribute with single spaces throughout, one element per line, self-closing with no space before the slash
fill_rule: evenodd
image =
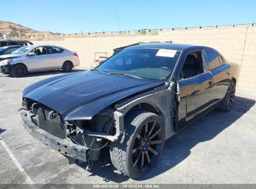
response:
<path id="1" fill-rule="evenodd" d="M 193 48 L 199 48 L 199 49 L 206 49 L 211 50 L 214 52 L 217 52 L 214 48 L 211 47 L 205 47 L 205 46 L 199 46 L 199 45 L 187 45 L 187 44 L 168 44 L 168 43 L 148 43 L 148 44 L 141 44 L 141 45 L 134 45 L 128 48 L 164 48 L 164 49 L 170 49 L 170 50 L 189 50 Z"/>

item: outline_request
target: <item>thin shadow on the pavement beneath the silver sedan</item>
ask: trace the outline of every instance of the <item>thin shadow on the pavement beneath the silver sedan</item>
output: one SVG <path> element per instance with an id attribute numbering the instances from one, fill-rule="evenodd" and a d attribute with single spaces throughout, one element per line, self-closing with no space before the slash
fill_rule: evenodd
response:
<path id="1" fill-rule="evenodd" d="M 78 72 L 78 71 L 85 71 L 82 69 L 73 69 L 71 72 Z M 31 78 L 31 77 L 36 77 L 36 76 L 47 76 L 47 75 L 57 75 L 57 74 L 64 74 L 67 73 L 62 70 L 47 70 L 47 71 L 36 71 L 36 72 L 31 72 L 27 73 L 27 75 L 22 76 L 22 78 Z M 9 78 L 14 78 L 12 75 L 6 75 Z"/>

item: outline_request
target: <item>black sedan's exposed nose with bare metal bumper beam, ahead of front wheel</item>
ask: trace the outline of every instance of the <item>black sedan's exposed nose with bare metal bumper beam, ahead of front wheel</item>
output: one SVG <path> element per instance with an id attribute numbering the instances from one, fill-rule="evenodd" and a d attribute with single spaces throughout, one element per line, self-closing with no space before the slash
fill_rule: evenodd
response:
<path id="1" fill-rule="evenodd" d="M 123 130 L 123 124 L 115 126 L 123 122 L 123 114 L 113 113 L 113 109 L 100 111 L 90 120 L 78 121 L 65 121 L 57 111 L 28 98 L 22 100 L 22 109 L 27 110 L 21 113 L 26 130 L 69 160 L 98 160 L 100 149 L 117 139 L 120 128 Z"/>

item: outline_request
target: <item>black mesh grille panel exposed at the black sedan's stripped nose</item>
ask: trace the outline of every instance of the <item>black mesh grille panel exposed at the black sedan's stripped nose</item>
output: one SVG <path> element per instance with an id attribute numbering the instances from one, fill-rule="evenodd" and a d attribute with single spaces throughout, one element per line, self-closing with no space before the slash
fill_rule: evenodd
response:
<path id="1" fill-rule="evenodd" d="M 52 111 L 52 109 L 40 104 L 39 109 L 37 110 L 39 116 L 38 126 L 55 137 L 65 139 L 66 131 L 62 116 L 57 114 L 58 116 L 55 116 L 55 118 L 47 119 L 47 116 L 49 115 L 50 111 Z"/>

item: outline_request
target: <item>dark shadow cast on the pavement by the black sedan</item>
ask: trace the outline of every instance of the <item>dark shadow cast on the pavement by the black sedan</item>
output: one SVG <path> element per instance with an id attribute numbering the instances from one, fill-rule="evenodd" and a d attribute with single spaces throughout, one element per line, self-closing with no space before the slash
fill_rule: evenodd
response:
<path id="1" fill-rule="evenodd" d="M 196 122 L 192 123 L 178 134 L 168 139 L 165 142 L 163 154 L 158 162 L 158 165 L 153 171 L 147 173 L 138 180 L 148 180 L 157 175 L 168 171 L 189 157 L 191 149 L 199 144 L 216 137 L 220 132 L 224 131 L 237 119 L 243 116 L 254 106 L 255 100 L 235 97 L 234 108 L 229 113 L 219 111 L 211 111 Z M 218 121 L 219 120 L 219 121 Z M 212 122 L 215 124 L 212 125 Z M 82 168 L 86 168 L 87 164 L 77 164 Z M 105 182 L 122 183 L 129 178 L 116 172 L 116 169 L 111 164 L 109 149 L 105 148 L 100 153 L 99 160 L 93 163 L 90 170 L 91 175 L 97 175 L 103 178 Z M 90 176 L 91 176 L 90 175 Z"/>

